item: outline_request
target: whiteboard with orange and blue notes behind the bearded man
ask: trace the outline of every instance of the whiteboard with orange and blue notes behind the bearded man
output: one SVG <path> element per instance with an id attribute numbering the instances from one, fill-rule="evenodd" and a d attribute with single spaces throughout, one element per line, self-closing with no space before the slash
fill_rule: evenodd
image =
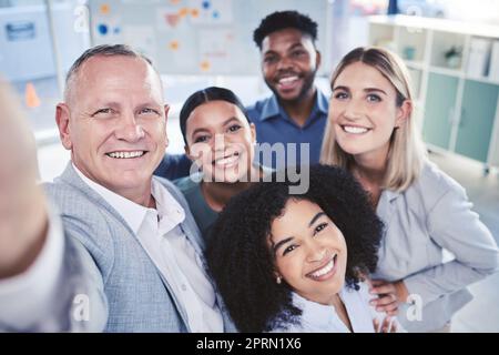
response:
<path id="1" fill-rule="evenodd" d="M 92 44 L 126 43 L 162 74 L 258 74 L 253 31 L 276 10 L 318 23 L 319 74 L 329 72 L 328 0 L 90 0 Z"/>

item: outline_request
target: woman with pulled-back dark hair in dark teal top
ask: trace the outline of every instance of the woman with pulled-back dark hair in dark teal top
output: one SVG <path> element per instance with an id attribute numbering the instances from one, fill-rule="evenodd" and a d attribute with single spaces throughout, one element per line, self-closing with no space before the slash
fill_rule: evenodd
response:
<path id="1" fill-rule="evenodd" d="M 211 87 L 193 93 L 181 110 L 180 125 L 185 153 L 200 171 L 175 184 L 206 237 L 226 202 L 266 170 L 253 164 L 255 126 L 231 90 Z"/>

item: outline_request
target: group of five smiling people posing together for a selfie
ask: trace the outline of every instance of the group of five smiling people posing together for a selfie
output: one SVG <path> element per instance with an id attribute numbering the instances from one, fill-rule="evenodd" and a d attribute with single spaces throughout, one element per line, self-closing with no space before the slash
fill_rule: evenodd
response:
<path id="1" fill-rule="evenodd" d="M 272 97 L 245 108 L 228 89 L 193 93 L 184 156 L 164 155 L 169 105 L 151 61 L 89 49 L 57 105 L 71 162 L 43 185 L 2 84 L 0 329 L 448 331 L 466 287 L 498 270 L 497 244 L 426 156 L 400 59 L 354 49 L 327 99 L 316 37 L 296 11 L 263 19 Z M 307 191 L 294 194 L 291 166 L 263 164 L 256 142 L 309 144 L 297 161 Z"/>

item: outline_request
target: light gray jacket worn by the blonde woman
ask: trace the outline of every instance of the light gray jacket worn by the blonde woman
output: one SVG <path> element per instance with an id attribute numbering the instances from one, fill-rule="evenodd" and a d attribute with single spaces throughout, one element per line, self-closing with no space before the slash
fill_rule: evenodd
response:
<path id="1" fill-rule="evenodd" d="M 441 328 L 471 298 L 467 286 L 499 268 L 499 251 L 489 230 L 472 212 L 465 189 L 435 164 L 427 163 L 405 192 L 385 190 L 377 213 L 385 223 L 374 278 L 404 280 L 419 296 L 399 310 L 408 332 Z M 442 264 L 442 250 L 455 260 Z"/>

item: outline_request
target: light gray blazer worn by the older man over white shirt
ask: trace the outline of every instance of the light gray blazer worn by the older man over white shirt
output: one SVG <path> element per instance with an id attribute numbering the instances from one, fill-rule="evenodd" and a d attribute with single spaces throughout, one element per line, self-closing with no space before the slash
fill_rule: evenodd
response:
<path id="1" fill-rule="evenodd" d="M 185 199 L 169 181 L 153 179 L 185 210 L 181 227 L 204 262 L 204 243 Z M 57 307 L 60 316 L 55 317 L 59 329 L 189 332 L 179 300 L 130 226 L 80 179 L 71 163 L 44 187 L 60 212 L 65 234 L 67 275 L 61 277 Z M 90 305 L 86 317 L 81 310 L 84 301 Z M 235 331 L 220 295 L 217 302 L 225 332 Z"/>

